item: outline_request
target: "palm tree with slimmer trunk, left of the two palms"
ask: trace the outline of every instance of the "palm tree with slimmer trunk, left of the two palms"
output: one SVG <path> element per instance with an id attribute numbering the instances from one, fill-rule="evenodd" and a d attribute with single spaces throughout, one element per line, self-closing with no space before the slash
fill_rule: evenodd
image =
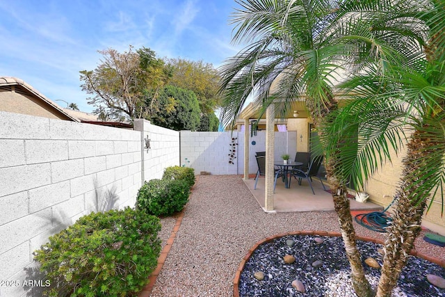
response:
<path id="1" fill-rule="evenodd" d="M 392 30 L 385 35 L 380 29 L 385 20 L 395 18 L 391 15 L 384 19 L 382 12 L 400 11 L 400 6 L 382 7 L 380 1 L 236 2 L 241 8 L 232 17 L 236 24 L 233 40 L 250 45 L 221 67 L 225 123 L 236 118 L 252 95 L 264 109 L 275 104 L 277 114 L 285 113 L 292 101 L 304 95 L 314 125 L 323 127 L 329 120 L 326 116 L 338 108 L 334 79 L 341 70 L 351 70 L 349 74 L 353 74 L 374 65 L 382 72 L 387 61 L 403 61 L 405 44 L 412 42 L 410 38 L 401 38 L 405 31 Z M 373 296 L 355 245 L 347 181 L 341 172 L 334 172 L 340 161 L 331 156 L 325 168 L 351 264 L 353 286 L 358 296 Z"/>

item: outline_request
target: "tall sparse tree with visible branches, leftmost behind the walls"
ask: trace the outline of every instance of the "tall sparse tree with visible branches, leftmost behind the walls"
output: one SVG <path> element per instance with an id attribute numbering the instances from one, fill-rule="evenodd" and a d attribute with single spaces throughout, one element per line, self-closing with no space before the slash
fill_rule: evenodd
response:
<path id="1" fill-rule="evenodd" d="M 130 46 L 122 54 L 115 49 L 99 53 L 103 58 L 96 69 L 80 72 L 81 88 L 92 95 L 88 104 L 97 106 L 95 113 L 106 110 L 107 116 L 123 113 L 131 119 L 151 113 L 159 90 L 170 77 L 170 67 L 145 47 L 134 52 Z"/>

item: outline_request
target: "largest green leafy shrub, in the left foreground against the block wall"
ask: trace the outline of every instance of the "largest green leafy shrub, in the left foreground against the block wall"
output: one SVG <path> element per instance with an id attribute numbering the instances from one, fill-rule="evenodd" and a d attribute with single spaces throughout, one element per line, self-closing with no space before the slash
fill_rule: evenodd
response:
<path id="1" fill-rule="evenodd" d="M 49 296 L 137 296 L 157 265 L 159 218 L 131 208 L 92 213 L 49 238 L 35 259 Z"/>

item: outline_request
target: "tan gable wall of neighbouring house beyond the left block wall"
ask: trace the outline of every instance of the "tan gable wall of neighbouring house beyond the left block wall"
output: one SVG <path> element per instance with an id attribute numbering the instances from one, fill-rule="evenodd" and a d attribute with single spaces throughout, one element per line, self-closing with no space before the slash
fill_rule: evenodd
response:
<path id="1" fill-rule="evenodd" d="M 35 97 L 9 90 L 0 90 L 0 111 L 68 120 L 62 113 L 55 110 L 50 111 L 42 101 L 35 99 Z"/>

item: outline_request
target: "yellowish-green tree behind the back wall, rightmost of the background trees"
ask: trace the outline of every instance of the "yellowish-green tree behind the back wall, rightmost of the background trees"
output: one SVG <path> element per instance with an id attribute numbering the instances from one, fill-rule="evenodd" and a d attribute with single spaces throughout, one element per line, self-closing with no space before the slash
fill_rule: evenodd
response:
<path id="1" fill-rule="evenodd" d="M 179 88 L 193 90 L 202 113 L 213 113 L 220 104 L 220 75 L 211 63 L 188 61 L 181 58 L 170 59 L 173 68 L 170 84 Z"/>

